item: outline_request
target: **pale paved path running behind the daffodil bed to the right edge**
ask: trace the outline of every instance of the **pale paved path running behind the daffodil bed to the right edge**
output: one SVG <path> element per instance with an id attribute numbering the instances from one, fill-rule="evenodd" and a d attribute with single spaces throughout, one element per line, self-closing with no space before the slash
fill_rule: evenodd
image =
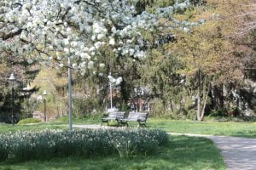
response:
<path id="1" fill-rule="evenodd" d="M 99 125 L 73 125 L 73 127 L 101 128 Z M 108 127 L 104 126 L 103 128 Z M 256 139 L 188 133 L 170 134 L 198 136 L 212 139 L 224 158 L 227 170 L 256 170 Z"/>

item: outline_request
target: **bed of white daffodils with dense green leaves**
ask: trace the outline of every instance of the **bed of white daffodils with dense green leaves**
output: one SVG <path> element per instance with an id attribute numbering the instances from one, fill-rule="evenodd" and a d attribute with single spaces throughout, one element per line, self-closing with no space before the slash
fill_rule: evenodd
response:
<path id="1" fill-rule="evenodd" d="M 148 129 L 44 130 L 1 135 L 0 159 L 49 159 L 55 156 L 121 157 L 148 155 L 167 142 L 167 134 Z M 7 147 L 8 146 L 8 147 Z"/>

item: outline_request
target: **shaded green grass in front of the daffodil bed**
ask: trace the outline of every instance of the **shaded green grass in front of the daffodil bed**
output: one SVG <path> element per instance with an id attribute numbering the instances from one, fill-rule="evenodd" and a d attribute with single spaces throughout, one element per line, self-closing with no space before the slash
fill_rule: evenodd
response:
<path id="1" fill-rule="evenodd" d="M 107 157 L 67 157 L 49 161 L 4 161 L 2 170 L 78 170 L 78 169 L 224 169 L 224 161 L 212 141 L 204 138 L 172 136 L 165 147 L 154 156 L 132 158 Z"/>

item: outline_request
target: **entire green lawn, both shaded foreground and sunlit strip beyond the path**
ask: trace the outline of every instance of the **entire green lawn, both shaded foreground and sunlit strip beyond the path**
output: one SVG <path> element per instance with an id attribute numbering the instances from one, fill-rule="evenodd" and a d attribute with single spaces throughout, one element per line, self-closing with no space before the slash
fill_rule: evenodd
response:
<path id="1" fill-rule="evenodd" d="M 100 117 L 73 118 L 73 124 L 101 124 Z M 53 122 L 35 125 L 0 124 L 0 133 L 9 131 L 38 131 L 45 128 L 68 128 L 63 117 Z M 116 123 L 112 122 L 115 126 Z M 130 122 L 137 127 L 137 122 Z M 148 118 L 147 127 L 160 128 L 173 133 L 198 133 L 256 138 L 255 122 L 193 122 Z M 0 169 L 224 169 L 224 162 L 212 141 L 204 138 L 171 136 L 169 144 L 154 156 L 137 156 L 130 159 L 119 156 L 68 157 L 49 161 L 0 162 Z"/>

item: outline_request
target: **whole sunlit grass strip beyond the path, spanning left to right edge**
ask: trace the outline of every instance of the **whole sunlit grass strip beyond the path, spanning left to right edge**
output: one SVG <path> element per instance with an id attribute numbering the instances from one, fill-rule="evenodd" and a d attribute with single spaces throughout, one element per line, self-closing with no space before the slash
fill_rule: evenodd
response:
<path id="1" fill-rule="evenodd" d="M 94 116 L 90 118 L 73 117 L 73 124 L 101 124 L 101 117 Z M 223 136 L 237 136 L 256 138 L 256 123 L 255 122 L 194 122 L 181 121 L 171 119 L 160 119 L 149 117 L 146 123 L 149 128 L 160 128 L 171 133 L 195 133 L 195 134 L 211 134 Z M 42 122 L 36 125 L 8 125 L 0 124 L 0 133 L 9 131 L 37 131 L 45 128 L 64 129 L 67 128 L 68 117 L 64 116 L 52 122 Z M 112 126 L 117 126 L 116 122 L 111 122 Z M 131 127 L 136 127 L 137 122 L 129 122 Z"/>

